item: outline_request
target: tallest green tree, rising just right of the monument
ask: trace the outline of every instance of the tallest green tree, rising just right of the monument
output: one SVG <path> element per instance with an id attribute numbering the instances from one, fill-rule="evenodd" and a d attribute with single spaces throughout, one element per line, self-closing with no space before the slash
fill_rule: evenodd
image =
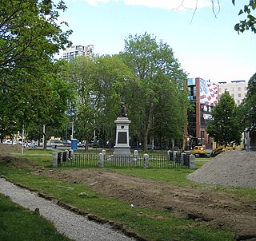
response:
<path id="1" fill-rule="evenodd" d="M 141 131 L 144 150 L 155 132 L 162 133 L 160 139 L 182 139 L 186 121 L 182 83 L 186 73 L 174 58 L 173 50 L 150 34 L 136 34 L 126 38 L 122 57 L 141 81 L 137 91 L 140 97 L 136 108 L 138 119 L 134 122 Z"/>

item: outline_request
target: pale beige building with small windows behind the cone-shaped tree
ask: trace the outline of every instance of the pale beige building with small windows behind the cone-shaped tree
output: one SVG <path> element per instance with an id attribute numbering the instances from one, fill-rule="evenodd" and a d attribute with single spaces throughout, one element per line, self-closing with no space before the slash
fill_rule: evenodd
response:
<path id="1" fill-rule="evenodd" d="M 246 81 L 226 81 L 218 82 L 218 95 L 222 96 L 222 93 L 228 91 L 230 96 L 234 98 L 237 105 L 240 105 L 242 100 L 246 97 L 248 82 Z"/>

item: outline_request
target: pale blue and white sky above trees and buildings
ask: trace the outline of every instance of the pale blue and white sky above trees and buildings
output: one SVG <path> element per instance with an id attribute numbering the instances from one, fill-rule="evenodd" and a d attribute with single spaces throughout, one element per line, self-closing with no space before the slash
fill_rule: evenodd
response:
<path id="1" fill-rule="evenodd" d="M 64 0 L 60 19 L 73 45 L 94 45 L 100 55 L 119 53 L 125 39 L 151 34 L 170 45 L 188 77 L 249 81 L 256 73 L 256 34 L 238 34 L 239 0 Z M 219 5 L 218 5 L 219 2 Z"/>

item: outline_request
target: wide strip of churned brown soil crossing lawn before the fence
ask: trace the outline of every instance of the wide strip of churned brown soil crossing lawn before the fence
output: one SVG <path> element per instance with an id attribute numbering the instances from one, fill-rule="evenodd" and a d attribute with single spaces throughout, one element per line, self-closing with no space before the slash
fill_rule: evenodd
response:
<path id="1" fill-rule="evenodd" d="M 15 159 L 6 163 L 18 167 L 27 165 L 24 160 L 17 164 Z M 33 164 L 29 165 L 33 168 Z M 206 223 L 209 227 L 228 228 L 236 233 L 236 240 L 256 240 L 256 200 L 246 202 L 238 196 L 207 188 L 178 188 L 107 169 L 40 169 L 36 173 L 73 183 L 90 184 L 94 192 L 102 196 L 118 198 L 134 204 L 134 207 L 167 210 L 171 215 L 196 220 L 195 225 Z"/>

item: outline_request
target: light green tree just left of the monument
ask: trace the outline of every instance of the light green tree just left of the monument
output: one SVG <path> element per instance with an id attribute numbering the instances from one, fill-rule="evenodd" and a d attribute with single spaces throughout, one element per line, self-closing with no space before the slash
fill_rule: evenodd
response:
<path id="1" fill-rule="evenodd" d="M 76 136 L 86 140 L 86 149 L 96 130 L 103 139 L 113 140 L 121 98 L 133 80 L 130 69 L 118 55 L 78 57 L 69 65 Z"/>

